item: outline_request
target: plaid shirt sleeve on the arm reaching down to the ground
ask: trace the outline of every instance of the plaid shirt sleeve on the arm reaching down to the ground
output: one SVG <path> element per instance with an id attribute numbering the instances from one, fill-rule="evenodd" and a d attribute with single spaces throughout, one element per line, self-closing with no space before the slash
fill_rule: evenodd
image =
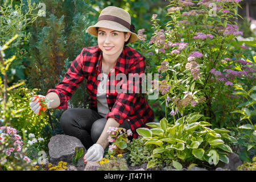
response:
<path id="1" fill-rule="evenodd" d="M 138 75 L 141 75 L 145 72 L 146 68 L 146 59 L 145 57 L 142 57 L 142 59 L 134 61 L 134 63 L 130 67 L 130 72 Z M 129 75 L 129 74 L 128 74 Z M 126 88 L 129 88 L 129 84 L 133 84 L 133 80 L 130 80 L 127 78 L 127 85 Z M 117 94 L 117 100 L 115 101 L 115 104 L 112 108 L 112 110 L 106 114 L 106 119 L 108 118 L 114 118 L 115 121 L 117 121 L 120 125 L 122 125 L 123 121 L 127 119 L 133 110 L 133 107 L 135 105 L 135 101 L 138 95 L 138 92 L 135 92 L 135 90 L 139 89 L 139 93 L 141 93 L 141 79 L 135 79 L 135 82 L 133 84 L 133 90 L 127 90 L 126 93 L 118 93 Z M 139 88 L 137 88 L 139 86 Z M 130 93 L 129 93 L 130 92 Z"/>

